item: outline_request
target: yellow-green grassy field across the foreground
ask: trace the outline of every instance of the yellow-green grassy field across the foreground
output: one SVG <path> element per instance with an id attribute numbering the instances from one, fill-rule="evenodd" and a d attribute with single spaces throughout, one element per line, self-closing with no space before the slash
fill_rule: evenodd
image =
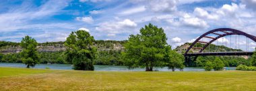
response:
<path id="1" fill-rule="evenodd" d="M 0 67 L 0 90 L 256 90 L 256 72 L 85 72 Z"/>

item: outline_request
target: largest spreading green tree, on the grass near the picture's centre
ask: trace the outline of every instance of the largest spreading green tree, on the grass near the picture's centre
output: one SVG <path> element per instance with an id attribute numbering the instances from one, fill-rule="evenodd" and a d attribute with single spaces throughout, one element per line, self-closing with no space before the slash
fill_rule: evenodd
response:
<path id="1" fill-rule="evenodd" d="M 151 23 L 145 25 L 140 29 L 140 34 L 130 35 L 124 44 L 122 56 L 125 64 L 129 69 L 141 67 L 146 68 L 146 71 L 164 66 L 164 57 L 168 55 L 166 50 L 170 50 L 166 40 L 164 29 Z"/>

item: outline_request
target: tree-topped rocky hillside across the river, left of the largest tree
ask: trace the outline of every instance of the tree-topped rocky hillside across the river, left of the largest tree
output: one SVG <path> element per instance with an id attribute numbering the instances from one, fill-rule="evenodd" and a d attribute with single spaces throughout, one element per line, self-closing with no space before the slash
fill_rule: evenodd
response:
<path id="1" fill-rule="evenodd" d="M 123 43 L 125 42 L 126 41 L 96 40 L 93 45 L 100 51 L 123 50 Z M 64 41 L 38 43 L 37 48 L 39 52 L 63 52 L 66 50 Z M 22 48 L 20 47 L 20 43 L 0 41 L 1 54 L 18 53 L 21 51 Z"/>

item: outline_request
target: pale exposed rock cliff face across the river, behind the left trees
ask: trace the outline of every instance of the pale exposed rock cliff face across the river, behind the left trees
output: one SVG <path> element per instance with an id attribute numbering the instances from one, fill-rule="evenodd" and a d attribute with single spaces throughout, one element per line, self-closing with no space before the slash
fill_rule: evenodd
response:
<path id="1" fill-rule="evenodd" d="M 123 50 L 123 41 L 104 41 L 104 42 L 96 42 L 94 43 L 94 46 L 99 51 L 108 51 L 108 50 L 117 50 L 122 51 Z M 64 43 L 53 43 L 53 44 L 44 44 L 39 43 L 38 46 L 38 52 L 63 52 L 66 50 Z M 0 48 L 1 54 L 13 54 L 13 53 L 19 53 L 22 51 L 22 48 L 20 45 L 6 45 Z"/>

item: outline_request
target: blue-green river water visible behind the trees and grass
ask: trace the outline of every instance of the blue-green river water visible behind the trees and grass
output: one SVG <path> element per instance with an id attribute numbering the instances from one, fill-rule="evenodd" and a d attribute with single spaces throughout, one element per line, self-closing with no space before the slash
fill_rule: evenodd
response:
<path id="1" fill-rule="evenodd" d="M 15 67 L 15 68 L 26 68 L 25 64 L 21 63 L 1 63 L 0 67 Z M 73 70 L 71 64 L 37 64 L 34 68 L 45 69 L 50 68 L 53 70 Z M 228 67 L 228 70 L 234 70 L 234 67 Z M 95 71 L 145 71 L 145 68 L 135 68 L 133 70 L 129 70 L 127 66 L 102 66 L 102 65 L 94 65 Z M 167 67 L 164 68 L 153 68 L 153 70 L 158 70 L 160 72 L 170 72 Z M 179 70 L 175 70 L 179 71 Z M 194 67 L 186 67 L 183 69 L 185 72 L 197 72 L 204 71 L 203 68 L 194 68 Z"/>

